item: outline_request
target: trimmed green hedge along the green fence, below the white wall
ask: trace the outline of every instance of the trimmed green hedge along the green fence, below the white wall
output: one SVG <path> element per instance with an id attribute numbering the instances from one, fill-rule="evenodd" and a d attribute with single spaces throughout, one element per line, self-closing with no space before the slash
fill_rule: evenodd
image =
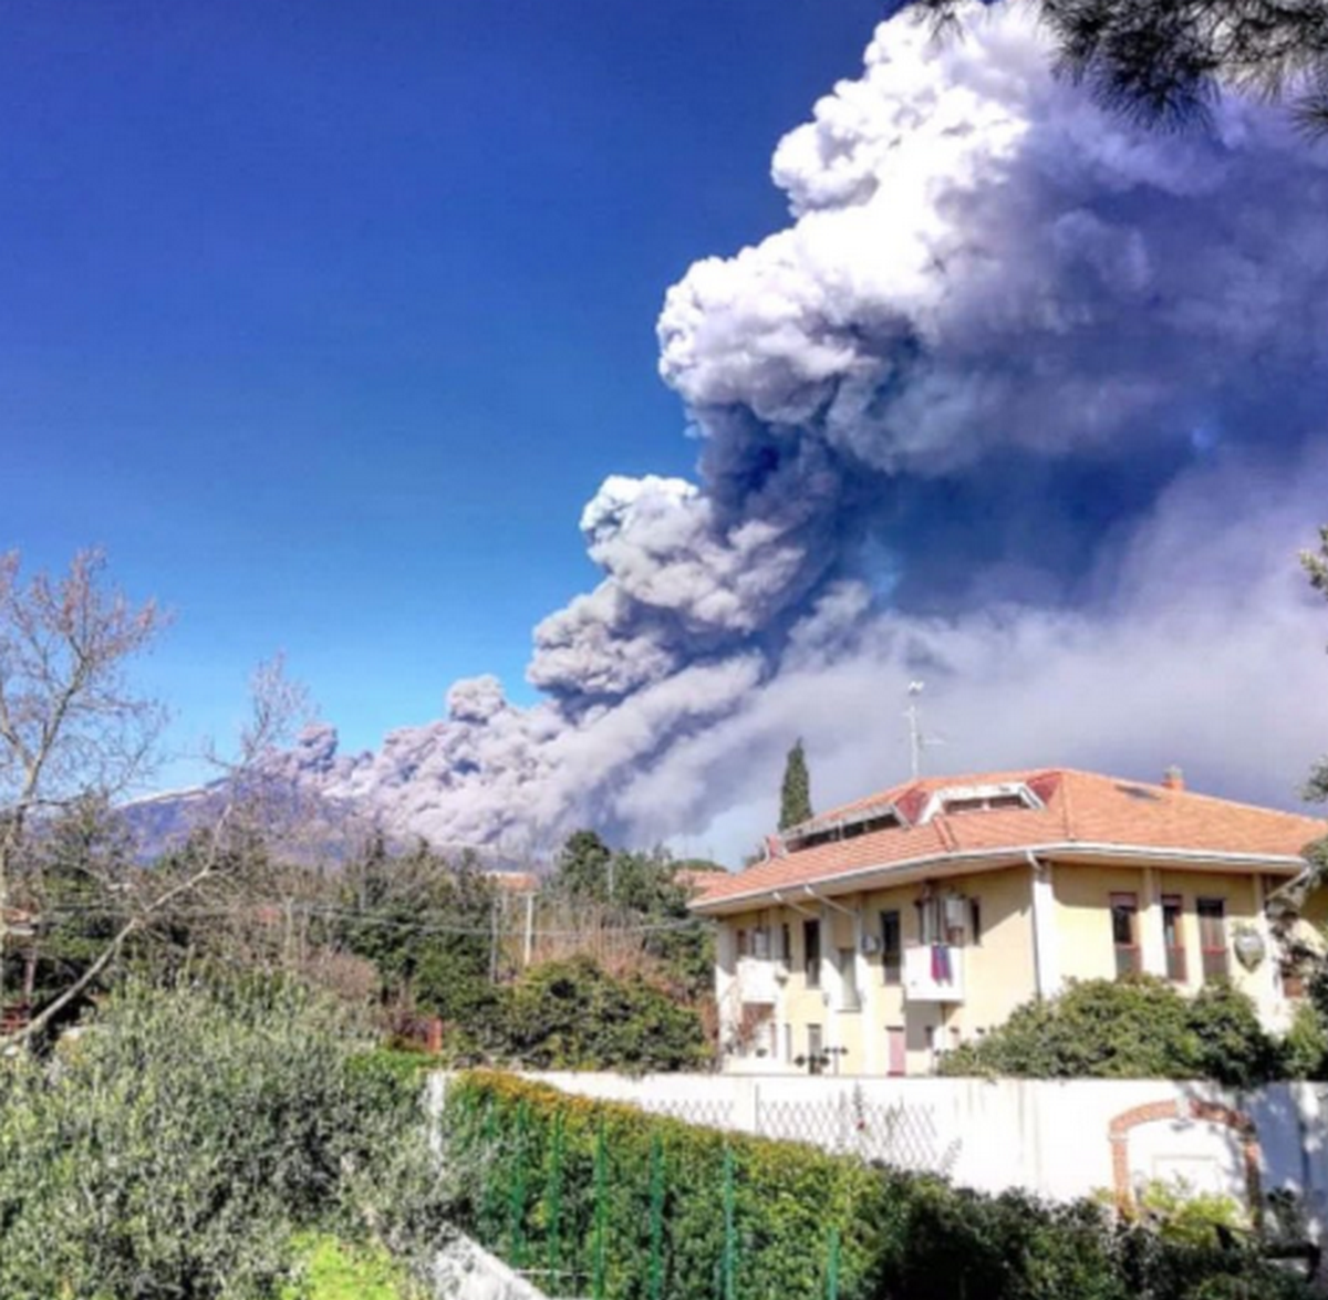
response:
<path id="1" fill-rule="evenodd" d="M 459 1224 L 595 1300 L 1304 1300 L 1252 1251 L 987 1196 L 793 1142 L 474 1072 L 448 1093 Z M 463 1162 L 463 1163 L 461 1163 Z"/>

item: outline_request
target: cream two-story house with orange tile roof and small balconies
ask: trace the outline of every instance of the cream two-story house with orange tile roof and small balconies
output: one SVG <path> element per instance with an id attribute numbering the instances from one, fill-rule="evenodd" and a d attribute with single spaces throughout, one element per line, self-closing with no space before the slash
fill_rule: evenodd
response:
<path id="1" fill-rule="evenodd" d="M 1230 979 L 1284 1026 L 1266 903 L 1325 831 L 1177 772 L 930 777 L 823 813 L 692 902 L 718 922 L 728 1068 L 923 1074 L 1031 997 L 1127 972 Z"/>

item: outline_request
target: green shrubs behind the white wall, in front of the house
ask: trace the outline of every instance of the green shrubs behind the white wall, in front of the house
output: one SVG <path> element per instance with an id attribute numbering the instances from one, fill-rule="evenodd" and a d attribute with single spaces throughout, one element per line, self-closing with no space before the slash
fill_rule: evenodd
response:
<path id="1" fill-rule="evenodd" d="M 948 1052 L 943 1074 L 1028 1078 L 1207 1078 L 1254 1088 L 1312 1073 L 1312 1026 L 1304 1038 L 1264 1032 L 1254 1004 L 1230 984 L 1185 997 L 1165 980 L 1072 983 L 1058 997 L 1025 1003 L 999 1029 Z"/>

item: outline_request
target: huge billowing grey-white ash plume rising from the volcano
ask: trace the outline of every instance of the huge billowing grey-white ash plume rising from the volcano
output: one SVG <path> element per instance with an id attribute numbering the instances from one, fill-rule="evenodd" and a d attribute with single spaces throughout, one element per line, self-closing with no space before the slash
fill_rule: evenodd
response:
<path id="1" fill-rule="evenodd" d="M 807 740 L 818 794 L 904 772 L 928 679 L 948 770 L 1182 762 L 1286 801 L 1328 742 L 1328 150 L 1230 100 L 1143 134 L 1057 81 L 1020 9 L 902 16 L 774 155 L 791 224 L 667 296 L 700 483 L 608 478 L 604 579 L 535 629 L 518 709 L 311 779 L 444 843 L 590 822 L 732 850 Z M 717 819 L 717 821 L 716 821 Z"/>

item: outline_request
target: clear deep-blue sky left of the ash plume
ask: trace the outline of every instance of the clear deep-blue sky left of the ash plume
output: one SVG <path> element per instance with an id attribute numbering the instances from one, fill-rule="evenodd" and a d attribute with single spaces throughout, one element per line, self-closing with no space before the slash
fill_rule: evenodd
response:
<path id="1" fill-rule="evenodd" d="M 519 697 L 608 473 L 688 473 L 664 289 L 784 224 L 870 0 L 0 11 L 0 548 L 106 547 L 224 733 L 284 648 L 348 748 Z M 182 769 L 177 769 L 182 770 Z"/>

